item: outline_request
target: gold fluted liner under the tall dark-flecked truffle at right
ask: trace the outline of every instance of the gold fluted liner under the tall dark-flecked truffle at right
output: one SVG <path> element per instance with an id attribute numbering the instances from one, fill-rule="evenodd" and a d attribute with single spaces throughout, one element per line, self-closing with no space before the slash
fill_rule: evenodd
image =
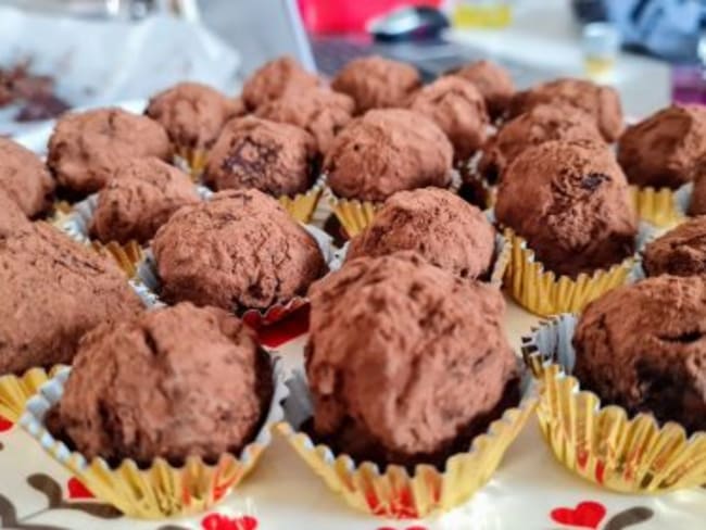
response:
<path id="1" fill-rule="evenodd" d="M 541 316 L 559 313 L 580 313 L 590 302 L 630 279 L 635 257 L 623 260 L 609 269 L 592 275 L 581 274 L 576 279 L 545 270 L 525 239 L 513 230 L 505 230 L 512 247 L 512 256 L 505 270 L 505 286 L 513 299 L 526 310 Z"/>

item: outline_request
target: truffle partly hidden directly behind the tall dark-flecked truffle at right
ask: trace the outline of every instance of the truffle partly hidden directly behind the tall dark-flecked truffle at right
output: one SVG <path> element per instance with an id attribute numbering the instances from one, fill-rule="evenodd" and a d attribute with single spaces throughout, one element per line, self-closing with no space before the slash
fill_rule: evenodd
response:
<path id="1" fill-rule="evenodd" d="M 502 178 L 510 162 L 530 146 L 549 140 L 603 142 L 594 119 L 563 103 L 537 105 L 507 122 L 488 141 L 479 172 L 490 181 Z"/>

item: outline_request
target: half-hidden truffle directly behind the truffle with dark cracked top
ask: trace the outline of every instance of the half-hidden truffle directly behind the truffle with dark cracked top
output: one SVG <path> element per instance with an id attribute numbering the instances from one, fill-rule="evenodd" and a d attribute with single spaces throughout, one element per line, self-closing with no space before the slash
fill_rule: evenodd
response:
<path id="1" fill-rule="evenodd" d="M 255 114 L 305 129 L 316 140 L 318 151 L 325 153 L 333 137 L 351 121 L 354 108 L 353 100 L 344 93 L 316 88 L 288 92 L 261 105 Z"/>

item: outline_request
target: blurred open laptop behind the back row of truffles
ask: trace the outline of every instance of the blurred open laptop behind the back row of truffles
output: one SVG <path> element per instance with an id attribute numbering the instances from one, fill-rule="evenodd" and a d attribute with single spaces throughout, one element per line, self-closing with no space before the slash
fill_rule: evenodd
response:
<path id="1" fill-rule="evenodd" d="M 265 61 L 293 55 L 311 72 L 332 76 L 346 62 L 371 54 L 411 63 L 426 80 L 471 61 L 490 59 L 505 66 L 519 87 L 552 77 L 505 58 L 443 38 L 381 43 L 369 36 L 313 36 L 306 33 L 297 0 L 202 0 L 201 21 L 235 46 L 249 75 Z"/>

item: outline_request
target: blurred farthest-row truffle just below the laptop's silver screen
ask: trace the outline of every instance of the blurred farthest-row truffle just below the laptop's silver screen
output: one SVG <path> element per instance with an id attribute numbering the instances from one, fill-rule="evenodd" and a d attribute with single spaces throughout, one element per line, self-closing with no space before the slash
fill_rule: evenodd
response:
<path id="1" fill-rule="evenodd" d="M 318 87 L 319 78 L 306 72 L 290 56 L 269 61 L 255 71 L 242 87 L 242 101 L 249 111 L 293 91 L 304 93 Z"/>

